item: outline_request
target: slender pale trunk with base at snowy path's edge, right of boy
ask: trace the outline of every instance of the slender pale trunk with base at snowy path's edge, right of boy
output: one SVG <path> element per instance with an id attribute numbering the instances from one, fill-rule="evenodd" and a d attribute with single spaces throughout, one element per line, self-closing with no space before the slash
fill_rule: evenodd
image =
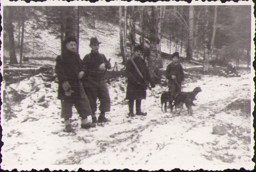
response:
<path id="1" fill-rule="evenodd" d="M 203 74 L 209 74 L 209 7 L 205 7 Z"/>

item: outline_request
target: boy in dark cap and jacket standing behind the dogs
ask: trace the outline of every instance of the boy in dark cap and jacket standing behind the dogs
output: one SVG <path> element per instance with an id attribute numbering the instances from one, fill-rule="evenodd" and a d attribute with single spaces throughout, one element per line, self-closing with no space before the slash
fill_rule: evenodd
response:
<path id="1" fill-rule="evenodd" d="M 172 54 L 172 62 L 166 68 L 166 78 L 168 79 L 169 92 L 172 99 L 175 94 L 181 91 L 181 83 L 184 81 L 184 72 L 179 63 L 179 52 Z"/>

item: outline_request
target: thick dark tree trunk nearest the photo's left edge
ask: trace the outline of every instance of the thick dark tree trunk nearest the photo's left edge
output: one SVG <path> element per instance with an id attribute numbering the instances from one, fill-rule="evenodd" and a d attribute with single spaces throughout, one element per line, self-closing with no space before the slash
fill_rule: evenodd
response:
<path id="1" fill-rule="evenodd" d="M 9 37 L 9 56 L 10 56 L 10 64 L 18 64 L 16 53 L 15 53 L 15 43 L 14 43 L 14 34 L 13 34 L 13 23 L 12 23 L 12 16 L 13 10 L 11 6 L 7 6 L 5 9 L 6 11 L 6 32 L 8 33 Z"/>

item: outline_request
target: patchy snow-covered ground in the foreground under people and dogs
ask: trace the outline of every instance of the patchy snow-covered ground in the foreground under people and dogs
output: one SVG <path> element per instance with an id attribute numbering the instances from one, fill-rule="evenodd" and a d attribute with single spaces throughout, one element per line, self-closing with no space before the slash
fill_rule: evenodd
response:
<path id="1" fill-rule="evenodd" d="M 183 67 L 190 68 L 187 64 Z M 154 93 L 148 90 L 147 99 L 142 101 L 142 110 L 148 115 L 127 118 L 126 79 L 111 79 L 108 87 L 112 107 L 106 114 L 111 122 L 81 129 L 73 109 L 74 133 L 66 133 L 60 119 L 57 84 L 49 82 L 51 87 L 47 88 L 42 84 L 43 79 L 39 74 L 6 87 L 10 100 L 19 94 L 25 97 L 12 105 L 16 118 L 7 121 L 5 114 L 1 114 L 2 169 L 67 168 L 63 165 L 96 170 L 254 167 L 251 116 L 250 111 L 244 111 L 248 105 L 244 102 L 250 102 L 251 98 L 252 79 L 248 72 L 233 78 L 209 75 L 198 80 L 186 78 L 183 91 L 202 88 L 194 101 L 193 116 L 188 116 L 186 107 L 180 116 L 169 109 L 162 112 L 160 96 L 167 88 L 157 85 Z M 3 108 L 6 109 L 6 104 Z M 212 127 L 217 125 L 225 126 L 228 133 L 212 134 Z"/>

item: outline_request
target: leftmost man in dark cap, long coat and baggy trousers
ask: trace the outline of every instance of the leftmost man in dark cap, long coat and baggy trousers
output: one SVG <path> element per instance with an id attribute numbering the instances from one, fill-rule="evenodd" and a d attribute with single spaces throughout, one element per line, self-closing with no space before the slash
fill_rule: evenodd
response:
<path id="1" fill-rule="evenodd" d="M 55 65 L 58 78 L 58 99 L 61 100 L 61 118 L 64 118 L 67 132 L 72 131 L 70 118 L 73 105 L 81 117 L 81 128 L 89 129 L 96 126 L 89 123 L 87 119 L 87 116 L 92 115 L 92 110 L 80 81 L 84 71 L 76 47 L 76 38 L 67 37 L 63 43 L 63 53 L 57 56 Z"/>

